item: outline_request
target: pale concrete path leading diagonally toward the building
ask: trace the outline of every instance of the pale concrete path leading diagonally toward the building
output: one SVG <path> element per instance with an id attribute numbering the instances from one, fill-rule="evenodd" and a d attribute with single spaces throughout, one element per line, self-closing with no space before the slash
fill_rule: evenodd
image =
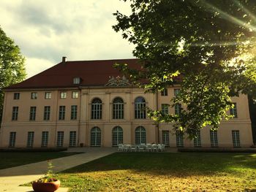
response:
<path id="1" fill-rule="evenodd" d="M 78 155 L 71 155 L 63 158 L 53 159 L 53 172 L 61 172 L 65 169 L 85 164 L 94 159 L 104 157 L 116 152 L 116 148 L 112 147 L 83 147 L 70 148 L 67 152 L 84 152 Z M 23 166 L 15 166 L 8 169 L 0 169 L 0 191 L 33 191 L 31 187 L 19 187 L 25 183 L 43 177 L 47 172 L 48 162 L 40 161 L 34 164 L 26 164 Z M 67 188 L 60 188 L 58 192 L 67 191 Z"/>

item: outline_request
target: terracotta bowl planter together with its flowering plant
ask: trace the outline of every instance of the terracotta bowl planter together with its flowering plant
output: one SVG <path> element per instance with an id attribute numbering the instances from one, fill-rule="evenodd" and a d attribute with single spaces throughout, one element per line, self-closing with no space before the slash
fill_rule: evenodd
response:
<path id="1" fill-rule="evenodd" d="M 32 188 L 35 192 L 53 192 L 61 185 L 60 180 L 57 180 L 53 174 L 53 163 L 48 160 L 48 171 L 45 177 L 32 182 Z"/>

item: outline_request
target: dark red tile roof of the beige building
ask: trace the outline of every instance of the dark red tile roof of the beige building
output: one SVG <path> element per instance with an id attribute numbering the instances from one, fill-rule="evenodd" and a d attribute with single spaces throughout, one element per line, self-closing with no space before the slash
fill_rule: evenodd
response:
<path id="1" fill-rule="evenodd" d="M 74 77 L 81 78 L 81 86 L 105 85 L 109 77 L 122 76 L 113 64 L 128 64 L 129 67 L 140 69 L 138 59 L 116 59 L 99 61 L 66 61 L 56 64 L 35 76 L 10 85 L 5 89 L 13 88 L 70 88 L 78 87 L 73 84 Z"/>

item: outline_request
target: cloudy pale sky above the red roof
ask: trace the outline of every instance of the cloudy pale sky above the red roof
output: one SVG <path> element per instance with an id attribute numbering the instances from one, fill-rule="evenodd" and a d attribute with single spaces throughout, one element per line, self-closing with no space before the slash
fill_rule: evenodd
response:
<path id="1" fill-rule="evenodd" d="M 68 61 L 133 58 L 134 45 L 113 31 L 119 0 L 1 0 L 0 26 L 26 57 L 28 76 Z"/>

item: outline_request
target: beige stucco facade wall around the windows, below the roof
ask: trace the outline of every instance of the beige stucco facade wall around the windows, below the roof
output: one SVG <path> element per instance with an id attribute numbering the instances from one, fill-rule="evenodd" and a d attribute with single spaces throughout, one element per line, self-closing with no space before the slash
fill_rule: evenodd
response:
<path id="1" fill-rule="evenodd" d="M 60 92 L 67 91 L 67 99 L 60 99 Z M 79 91 L 78 99 L 72 99 L 72 91 Z M 174 88 L 168 88 L 168 96 L 158 96 L 154 93 L 144 93 L 140 88 L 81 88 L 78 89 L 48 89 L 48 90 L 15 90 L 7 91 L 4 97 L 4 113 L 0 131 L 0 147 L 8 147 L 10 132 L 16 132 L 15 147 L 26 147 L 28 131 L 34 131 L 34 147 L 41 146 L 42 131 L 49 131 L 48 147 L 56 146 L 57 131 L 64 131 L 64 147 L 69 146 L 69 131 L 77 132 L 77 145 L 83 143 L 90 146 L 91 128 L 97 126 L 101 130 L 101 146 L 112 146 L 112 129 L 115 126 L 123 128 L 123 141 L 125 144 L 135 143 L 135 128 L 146 128 L 146 142 L 162 142 L 162 131 L 170 131 L 170 147 L 176 147 L 176 135 L 173 134 L 172 124 L 156 123 L 146 118 L 135 119 L 135 99 L 143 96 L 146 106 L 151 109 L 161 109 L 161 104 L 169 104 L 174 96 Z M 31 92 L 37 92 L 38 98 L 31 99 Z M 45 99 L 45 92 L 51 92 L 52 98 Z M 20 93 L 20 99 L 14 100 L 13 93 Z M 124 119 L 113 120 L 113 99 L 121 97 L 124 100 Z M 91 101 L 94 98 L 102 100 L 102 119 L 91 120 Z M 239 130 L 241 147 L 252 145 L 252 130 L 249 120 L 249 107 L 247 97 L 240 95 L 233 98 L 237 103 L 238 118 L 223 120 L 217 131 L 219 147 L 233 147 L 232 130 Z M 59 120 L 59 106 L 66 106 L 65 120 Z M 78 105 L 78 119 L 70 120 L 71 105 Z M 12 120 L 12 107 L 18 106 L 18 120 Z M 36 120 L 29 120 L 30 107 L 37 107 Z M 50 120 L 43 120 L 45 106 L 50 106 Z M 169 107 L 169 112 L 174 112 Z M 228 113 L 228 112 L 227 112 Z M 193 141 L 184 136 L 184 147 L 193 147 Z M 201 130 L 202 147 L 211 147 L 208 128 Z"/>

